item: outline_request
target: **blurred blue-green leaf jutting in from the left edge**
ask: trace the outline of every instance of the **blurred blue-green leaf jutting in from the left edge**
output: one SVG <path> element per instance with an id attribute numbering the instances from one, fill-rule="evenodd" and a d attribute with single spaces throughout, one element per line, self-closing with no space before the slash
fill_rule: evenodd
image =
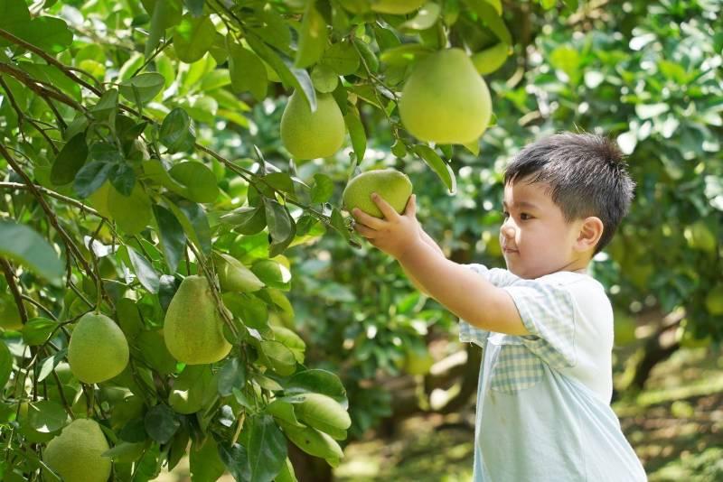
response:
<path id="1" fill-rule="evenodd" d="M 61 260 L 52 246 L 31 227 L 0 221 L 0 256 L 23 264 L 51 283 L 61 281 Z"/>

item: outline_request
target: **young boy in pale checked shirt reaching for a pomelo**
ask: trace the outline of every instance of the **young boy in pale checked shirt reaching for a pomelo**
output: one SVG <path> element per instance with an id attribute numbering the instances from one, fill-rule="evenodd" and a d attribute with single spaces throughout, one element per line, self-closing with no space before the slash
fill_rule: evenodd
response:
<path id="1" fill-rule="evenodd" d="M 402 215 L 373 195 L 383 219 L 352 213 L 371 245 L 460 318 L 460 340 L 484 349 L 475 482 L 646 480 L 610 408 L 613 310 L 587 274 L 633 191 L 601 136 L 526 146 L 504 173 L 506 270 L 447 260 L 418 224 L 414 196 Z"/>

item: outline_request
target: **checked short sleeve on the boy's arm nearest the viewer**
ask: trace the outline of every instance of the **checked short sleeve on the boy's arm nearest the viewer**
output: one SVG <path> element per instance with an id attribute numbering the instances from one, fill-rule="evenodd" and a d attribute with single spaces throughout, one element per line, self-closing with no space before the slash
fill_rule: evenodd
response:
<path id="1" fill-rule="evenodd" d="M 530 280 L 503 289 L 531 333 L 520 337 L 527 348 L 553 368 L 575 366 L 575 306 L 565 286 Z"/>

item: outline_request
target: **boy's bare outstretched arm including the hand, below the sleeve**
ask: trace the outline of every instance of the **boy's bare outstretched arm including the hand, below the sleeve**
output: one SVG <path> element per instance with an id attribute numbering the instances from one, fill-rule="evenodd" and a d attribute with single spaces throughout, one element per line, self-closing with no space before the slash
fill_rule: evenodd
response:
<path id="1" fill-rule="evenodd" d="M 405 273 L 432 298 L 475 327 L 510 335 L 530 334 L 507 292 L 462 264 L 439 255 L 424 241 L 416 218 L 414 196 L 409 199 L 403 215 L 384 199 L 373 195 L 372 199 L 384 218 L 373 218 L 354 209 L 352 215 L 358 221 L 356 230 L 371 245 L 397 259 Z"/>

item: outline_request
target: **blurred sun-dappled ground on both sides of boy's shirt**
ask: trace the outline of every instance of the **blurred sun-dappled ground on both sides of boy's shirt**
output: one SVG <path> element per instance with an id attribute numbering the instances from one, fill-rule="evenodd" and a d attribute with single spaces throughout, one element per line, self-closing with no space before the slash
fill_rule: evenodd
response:
<path id="1" fill-rule="evenodd" d="M 651 482 L 723 481 L 723 357 L 681 349 L 646 389 L 614 404 Z M 469 428 L 460 428 L 460 422 Z M 415 417 L 391 440 L 356 442 L 336 469 L 343 482 L 472 480 L 474 403 L 462 414 Z M 449 427 L 449 428 L 445 428 Z"/>

